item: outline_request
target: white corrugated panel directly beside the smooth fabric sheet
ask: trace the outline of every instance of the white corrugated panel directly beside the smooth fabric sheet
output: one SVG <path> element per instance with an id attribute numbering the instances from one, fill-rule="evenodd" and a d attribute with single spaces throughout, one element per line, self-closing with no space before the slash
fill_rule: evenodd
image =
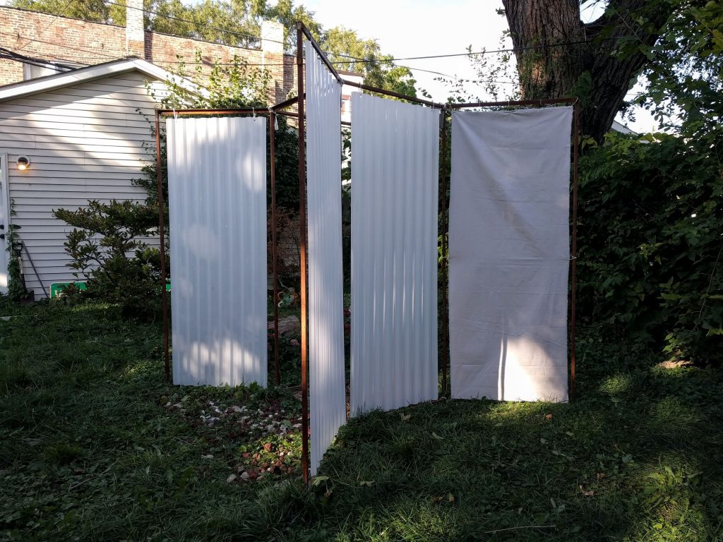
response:
<path id="1" fill-rule="evenodd" d="M 440 112 L 351 96 L 351 412 L 437 398 Z"/>

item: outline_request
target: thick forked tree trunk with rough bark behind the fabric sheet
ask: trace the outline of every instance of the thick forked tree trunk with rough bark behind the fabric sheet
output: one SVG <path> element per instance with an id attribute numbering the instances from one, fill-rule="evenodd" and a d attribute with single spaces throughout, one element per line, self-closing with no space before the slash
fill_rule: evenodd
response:
<path id="1" fill-rule="evenodd" d="M 668 2 L 610 0 L 598 20 L 580 20 L 578 0 L 502 0 L 510 25 L 524 99 L 581 98 L 581 132 L 602 142 L 649 59 L 616 54 L 621 38 L 652 45 L 669 17 Z M 638 24 L 646 18 L 646 28 Z M 565 44 L 565 45 L 559 45 Z"/>

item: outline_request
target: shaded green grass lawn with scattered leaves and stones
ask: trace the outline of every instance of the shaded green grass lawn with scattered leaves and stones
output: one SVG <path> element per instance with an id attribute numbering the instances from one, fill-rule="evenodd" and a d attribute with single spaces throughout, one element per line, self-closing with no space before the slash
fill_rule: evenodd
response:
<path id="1" fill-rule="evenodd" d="M 294 387 L 163 384 L 161 326 L 111 307 L 0 299 L 11 314 L 0 540 L 723 540 L 722 373 L 590 330 L 575 403 L 356 418 L 305 489 Z"/>

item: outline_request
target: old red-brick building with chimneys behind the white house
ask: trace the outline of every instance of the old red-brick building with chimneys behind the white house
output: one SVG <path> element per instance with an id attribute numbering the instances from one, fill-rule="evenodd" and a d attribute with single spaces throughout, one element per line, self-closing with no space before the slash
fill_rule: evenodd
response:
<path id="1" fill-rule="evenodd" d="M 264 22 L 259 49 L 225 46 L 191 38 L 147 32 L 143 27 L 142 0 L 127 1 L 127 26 L 105 25 L 69 17 L 0 7 L 0 43 L 14 53 L 48 61 L 34 66 L 0 59 L 0 85 L 52 74 L 55 64 L 87 66 L 137 57 L 165 69 L 173 69 L 181 57 L 194 64 L 197 51 L 203 63 L 226 63 L 234 56 L 266 69 L 273 81 L 269 99 L 285 100 L 296 90 L 295 57 L 283 53 L 283 26 Z"/>

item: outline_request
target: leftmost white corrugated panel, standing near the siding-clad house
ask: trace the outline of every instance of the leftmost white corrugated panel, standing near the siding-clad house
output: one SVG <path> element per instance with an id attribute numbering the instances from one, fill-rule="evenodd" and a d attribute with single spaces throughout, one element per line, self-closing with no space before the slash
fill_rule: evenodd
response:
<path id="1" fill-rule="evenodd" d="M 174 384 L 266 386 L 266 119 L 168 119 Z"/>

